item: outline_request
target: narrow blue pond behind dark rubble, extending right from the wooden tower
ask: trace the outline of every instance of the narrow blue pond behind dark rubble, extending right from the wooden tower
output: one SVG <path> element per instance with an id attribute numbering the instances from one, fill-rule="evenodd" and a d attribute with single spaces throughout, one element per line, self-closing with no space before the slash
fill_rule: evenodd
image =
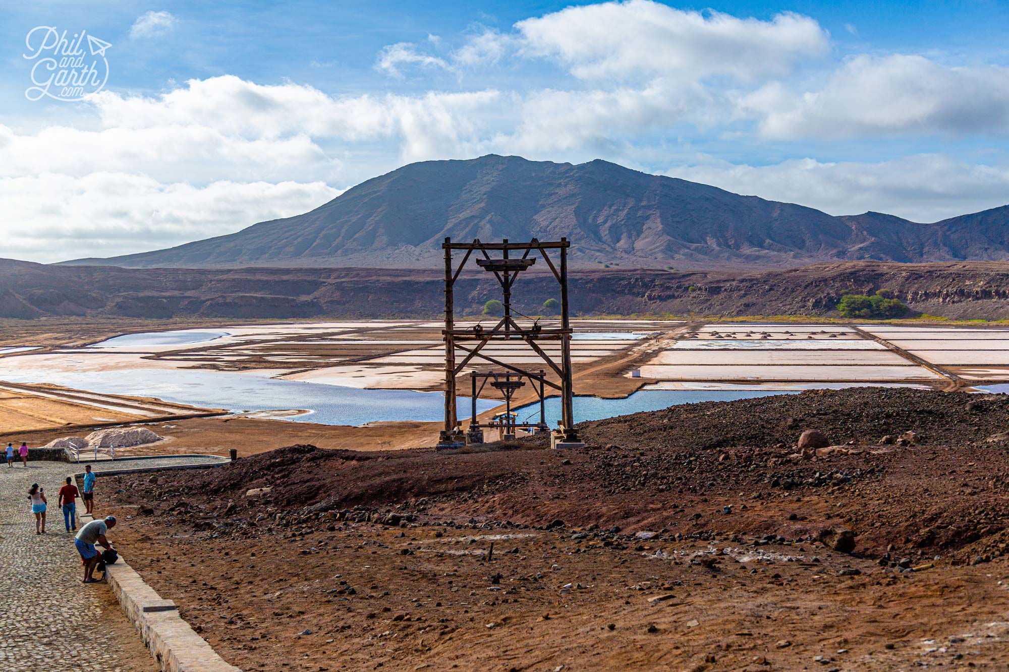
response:
<path id="1" fill-rule="evenodd" d="M 604 420 L 616 416 L 627 416 L 642 411 L 661 411 L 681 404 L 699 402 L 735 402 L 741 399 L 770 397 L 772 395 L 798 395 L 799 390 L 704 390 L 704 389 L 642 389 L 626 399 L 599 399 L 597 397 L 574 398 L 574 421 Z M 465 407 L 460 407 L 465 408 Z M 551 397 L 546 401 L 547 424 L 557 427 L 561 419 L 561 400 Z M 519 422 L 535 422 L 540 417 L 539 403 L 524 406 L 515 411 Z"/>

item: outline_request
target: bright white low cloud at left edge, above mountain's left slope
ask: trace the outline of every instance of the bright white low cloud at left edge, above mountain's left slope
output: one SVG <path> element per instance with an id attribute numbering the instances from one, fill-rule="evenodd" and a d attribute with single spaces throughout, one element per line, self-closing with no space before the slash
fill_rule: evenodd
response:
<path id="1" fill-rule="evenodd" d="M 232 233 L 336 198 L 323 183 L 162 184 L 123 173 L 43 173 L 0 179 L 5 257 L 60 261 L 109 256 Z"/>

